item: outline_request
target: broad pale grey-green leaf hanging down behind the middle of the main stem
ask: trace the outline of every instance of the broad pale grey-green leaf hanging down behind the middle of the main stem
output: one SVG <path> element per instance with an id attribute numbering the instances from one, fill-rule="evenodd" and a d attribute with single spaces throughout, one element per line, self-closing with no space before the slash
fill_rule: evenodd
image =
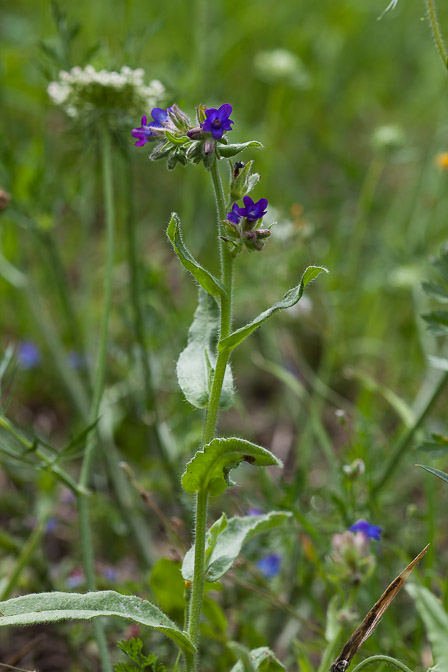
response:
<path id="1" fill-rule="evenodd" d="M 205 408 L 216 365 L 219 311 L 215 300 L 199 290 L 198 307 L 188 331 L 188 344 L 177 361 L 177 379 L 187 401 L 196 408 Z M 234 390 L 230 365 L 227 365 L 221 391 L 220 407 L 230 408 Z"/>

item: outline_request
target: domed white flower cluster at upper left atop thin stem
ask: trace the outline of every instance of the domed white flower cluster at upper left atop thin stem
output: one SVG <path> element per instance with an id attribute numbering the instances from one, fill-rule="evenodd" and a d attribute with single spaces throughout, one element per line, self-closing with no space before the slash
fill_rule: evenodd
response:
<path id="1" fill-rule="evenodd" d="M 145 71 L 124 65 L 120 72 L 96 71 L 91 65 L 61 71 L 59 81 L 48 85 L 48 95 L 71 117 L 95 109 L 141 115 L 157 107 L 165 87 L 154 79 L 144 83 Z"/>

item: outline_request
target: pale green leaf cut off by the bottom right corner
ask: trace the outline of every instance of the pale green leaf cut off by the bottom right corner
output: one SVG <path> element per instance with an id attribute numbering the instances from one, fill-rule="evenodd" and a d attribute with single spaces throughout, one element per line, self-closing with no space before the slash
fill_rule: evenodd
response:
<path id="1" fill-rule="evenodd" d="M 441 671 L 448 670 L 448 614 L 439 600 L 423 586 L 411 583 L 406 586 L 406 590 L 415 600 L 423 619 L 435 662 Z"/>

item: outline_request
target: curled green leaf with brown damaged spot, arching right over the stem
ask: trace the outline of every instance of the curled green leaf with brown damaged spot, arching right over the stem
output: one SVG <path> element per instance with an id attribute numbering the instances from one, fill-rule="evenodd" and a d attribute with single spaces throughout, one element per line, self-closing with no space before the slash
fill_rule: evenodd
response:
<path id="1" fill-rule="evenodd" d="M 283 466 L 269 450 L 250 441 L 236 437 L 213 439 L 187 464 L 182 487 L 190 494 L 207 491 L 212 496 L 221 495 L 230 485 L 235 485 L 229 479 L 229 472 L 241 462 L 256 467 Z"/>

